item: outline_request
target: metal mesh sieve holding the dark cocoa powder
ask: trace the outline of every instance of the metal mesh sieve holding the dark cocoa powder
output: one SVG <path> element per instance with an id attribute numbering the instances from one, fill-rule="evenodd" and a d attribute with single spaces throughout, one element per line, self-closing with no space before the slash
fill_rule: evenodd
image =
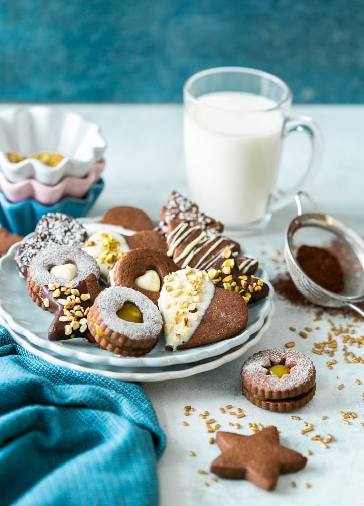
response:
<path id="1" fill-rule="evenodd" d="M 314 212 L 302 213 L 303 195 L 311 202 Z M 296 204 L 298 216 L 288 225 L 285 234 L 285 260 L 296 288 L 306 299 L 318 306 L 349 306 L 364 316 L 364 310 L 355 304 L 364 301 L 363 238 L 340 220 L 319 213 L 307 193 L 298 192 Z M 345 283 L 340 292 L 327 290 L 302 270 L 297 261 L 297 252 L 304 245 L 325 249 L 337 258 Z"/>

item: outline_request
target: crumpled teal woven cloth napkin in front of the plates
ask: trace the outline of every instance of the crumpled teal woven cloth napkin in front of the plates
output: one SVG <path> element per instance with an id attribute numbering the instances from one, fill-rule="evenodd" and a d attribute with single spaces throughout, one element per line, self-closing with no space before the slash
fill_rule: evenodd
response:
<path id="1" fill-rule="evenodd" d="M 0 326 L 0 504 L 158 504 L 165 436 L 143 387 L 58 367 Z"/>

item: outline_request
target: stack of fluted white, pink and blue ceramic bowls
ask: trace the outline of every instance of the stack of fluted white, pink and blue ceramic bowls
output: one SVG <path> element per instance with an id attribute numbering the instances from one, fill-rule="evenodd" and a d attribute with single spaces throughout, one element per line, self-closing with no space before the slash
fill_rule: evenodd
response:
<path id="1" fill-rule="evenodd" d="M 61 107 L 0 112 L 0 226 L 26 235 L 45 213 L 85 216 L 104 187 L 105 149 L 97 124 Z"/>

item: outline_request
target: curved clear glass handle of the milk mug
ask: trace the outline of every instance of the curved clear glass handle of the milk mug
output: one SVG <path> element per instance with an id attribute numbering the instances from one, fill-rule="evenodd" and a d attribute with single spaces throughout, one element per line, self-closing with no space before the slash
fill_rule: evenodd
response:
<path id="1" fill-rule="evenodd" d="M 301 179 L 295 184 L 294 187 L 283 192 L 278 188 L 275 188 L 271 192 L 271 199 L 268 205 L 268 212 L 272 213 L 285 207 L 294 195 L 302 190 L 302 185 L 306 182 L 313 174 L 316 173 L 320 166 L 323 152 L 323 138 L 319 125 L 313 121 L 313 119 L 307 116 L 298 116 L 297 118 L 287 118 L 283 124 L 282 137 L 283 141 L 292 132 L 304 132 L 306 133 L 311 141 L 311 156 L 306 167 L 305 172 L 301 176 Z"/>

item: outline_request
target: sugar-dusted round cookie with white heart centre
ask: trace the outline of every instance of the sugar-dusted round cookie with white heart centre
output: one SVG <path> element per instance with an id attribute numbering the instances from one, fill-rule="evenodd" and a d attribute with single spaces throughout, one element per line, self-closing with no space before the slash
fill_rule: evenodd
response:
<path id="1" fill-rule="evenodd" d="M 89 274 L 100 280 L 99 266 L 85 251 L 73 246 L 50 246 L 39 251 L 28 269 L 27 288 L 30 297 L 45 311 L 52 310 L 43 300 L 45 285 L 78 285 Z"/>

